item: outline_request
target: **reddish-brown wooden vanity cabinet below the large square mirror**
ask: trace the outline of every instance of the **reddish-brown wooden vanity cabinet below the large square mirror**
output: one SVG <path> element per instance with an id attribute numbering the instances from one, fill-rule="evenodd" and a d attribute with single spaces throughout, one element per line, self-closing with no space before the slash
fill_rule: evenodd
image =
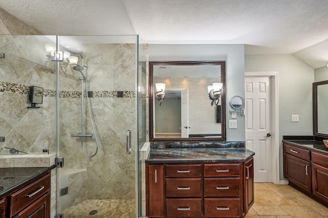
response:
<path id="1" fill-rule="evenodd" d="M 146 163 L 146 215 L 243 217 L 254 202 L 252 163 L 253 158 L 247 163 Z M 246 166 L 248 179 L 244 178 Z M 248 208 L 244 198 L 250 199 L 245 200 Z"/>

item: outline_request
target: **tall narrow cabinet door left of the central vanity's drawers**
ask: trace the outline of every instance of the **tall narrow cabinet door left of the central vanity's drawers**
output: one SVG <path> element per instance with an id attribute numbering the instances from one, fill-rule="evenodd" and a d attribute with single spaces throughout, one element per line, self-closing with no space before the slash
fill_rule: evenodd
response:
<path id="1" fill-rule="evenodd" d="M 164 166 L 149 164 L 147 167 L 146 195 L 148 216 L 165 216 Z"/>

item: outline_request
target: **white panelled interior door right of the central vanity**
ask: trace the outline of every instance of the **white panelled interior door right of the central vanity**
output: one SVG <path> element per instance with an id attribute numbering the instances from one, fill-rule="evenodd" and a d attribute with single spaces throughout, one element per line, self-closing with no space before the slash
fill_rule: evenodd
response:
<path id="1" fill-rule="evenodd" d="M 272 182 L 269 77 L 245 78 L 245 111 L 246 148 L 255 152 L 254 182 Z"/>

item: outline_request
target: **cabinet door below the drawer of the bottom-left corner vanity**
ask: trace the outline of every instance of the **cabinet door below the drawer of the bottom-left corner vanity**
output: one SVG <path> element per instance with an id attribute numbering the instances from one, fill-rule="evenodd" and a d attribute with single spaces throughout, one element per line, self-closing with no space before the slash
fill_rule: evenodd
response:
<path id="1" fill-rule="evenodd" d="M 50 192 L 40 197 L 33 204 L 19 212 L 19 218 L 50 218 Z"/>

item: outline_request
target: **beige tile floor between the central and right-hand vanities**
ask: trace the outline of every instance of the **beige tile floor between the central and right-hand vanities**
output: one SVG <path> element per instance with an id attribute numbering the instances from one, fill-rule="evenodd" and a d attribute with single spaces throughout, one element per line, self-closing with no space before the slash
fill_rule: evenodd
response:
<path id="1" fill-rule="evenodd" d="M 328 208 L 289 185 L 255 183 L 254 195 L 245 218 L 328 218 Z"/>

